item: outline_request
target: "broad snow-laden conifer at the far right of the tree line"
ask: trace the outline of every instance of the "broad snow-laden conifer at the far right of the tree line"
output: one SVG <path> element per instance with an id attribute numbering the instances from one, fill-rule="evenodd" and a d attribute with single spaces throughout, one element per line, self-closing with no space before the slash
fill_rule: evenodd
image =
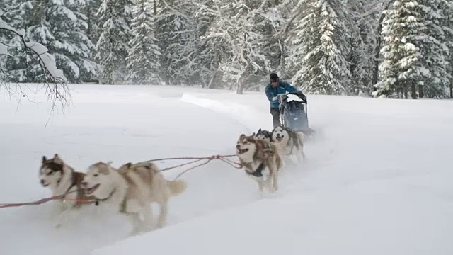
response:
<path id="1" fill-rule="evenodd" d="M 398 97 L 401 94 L 408 98 L 411 90 L 411 97 L 417 98 L 416 90 L 423 86 L 428 96 L 442 97 L 445 78 L 439 75 L 445 74 L 440 67 L 445 65 L 445 57 L 442 43 L 437 40 L 440 34 L 433 31 L 438 28 L 439 18 L 435 1 L 395 1 L 385 14 L 384 62 L 379 67 L 381 81 L 374 95 L 391 96 L 396 92 Z"/>

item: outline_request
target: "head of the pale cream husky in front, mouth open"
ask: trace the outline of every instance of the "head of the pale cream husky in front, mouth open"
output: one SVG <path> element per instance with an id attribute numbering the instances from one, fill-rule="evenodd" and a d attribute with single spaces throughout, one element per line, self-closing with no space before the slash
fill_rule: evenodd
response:
<path id="1" fill-rule="evenodd" d="M 88 166 L 86 176 L 81 181 L 81 187 L 84 188 L 86 195 L 96 198 L 107 198 L 115 187 L 115 176 L 110 165 L 112 162 L 97 162 Z"/>

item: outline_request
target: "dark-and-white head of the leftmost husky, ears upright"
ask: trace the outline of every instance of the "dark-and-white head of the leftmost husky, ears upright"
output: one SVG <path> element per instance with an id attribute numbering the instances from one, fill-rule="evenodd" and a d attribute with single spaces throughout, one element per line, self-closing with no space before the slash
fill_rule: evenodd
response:
<path id="1" fill-rule="evenodd" d="M 59 157 L 59 154 L 55 154 L 52 159 L 42 156 L 42 162 L 40 167 L 40 183 L 42 186 L 55 188 L 62 180 L 64 174 L 64 162 Z"/>

